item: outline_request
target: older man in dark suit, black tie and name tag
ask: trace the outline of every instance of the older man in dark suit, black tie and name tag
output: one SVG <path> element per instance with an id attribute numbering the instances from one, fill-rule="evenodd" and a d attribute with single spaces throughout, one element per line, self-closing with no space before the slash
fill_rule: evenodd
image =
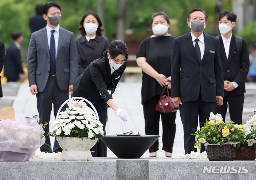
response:
<path id="1" fill-rule="evenodd" d="M 219 57 L 219 41 L 203 33 L 207 14 L 200 8 L 187 18 L 191 32 L 174 39 L 171 64 L 171 96 L 180 105 L 184 130 L 185 153 L 194 148 L 194 134 L 214 112 L 215 104 L 223 103 L 223 75 Z M 204 147 L 201 148 L 201 152 Z"/>

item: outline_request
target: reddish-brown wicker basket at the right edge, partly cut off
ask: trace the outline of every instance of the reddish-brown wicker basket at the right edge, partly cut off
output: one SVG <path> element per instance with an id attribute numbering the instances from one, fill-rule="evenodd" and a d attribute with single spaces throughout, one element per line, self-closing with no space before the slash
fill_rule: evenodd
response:
<path id="1" fill-rule="evenodd" d="M 244 147 L 243 150 L 241 148 L 234 147 L 235 151 L 235 160 L 255 160 L 255 148 L 252 147 Z"/>

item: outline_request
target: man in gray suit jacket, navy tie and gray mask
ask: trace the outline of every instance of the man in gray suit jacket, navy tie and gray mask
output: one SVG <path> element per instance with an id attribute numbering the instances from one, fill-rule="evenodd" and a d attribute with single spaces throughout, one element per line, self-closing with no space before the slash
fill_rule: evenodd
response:
<path id="1" fill-rule="evenodd" d="M 59 26 L 60 6 L 53 1 L 43 8 L 47 26 L 31 35 L 28 47 L 28 80 L 30 91 L 37 96 L 40 123 L 49 123 L 52 103 L 54 116 L 62 103 L 73 93 L 73 82 L 78 76 L 78 57 L 72 32 Z M 44 128 L 46 144 L 50 145 L 49 125 Z M 41 146 L 42 152 L 52 152 L 49 146 Z M 55 140 L 53 152 L 60 152 Z"/>

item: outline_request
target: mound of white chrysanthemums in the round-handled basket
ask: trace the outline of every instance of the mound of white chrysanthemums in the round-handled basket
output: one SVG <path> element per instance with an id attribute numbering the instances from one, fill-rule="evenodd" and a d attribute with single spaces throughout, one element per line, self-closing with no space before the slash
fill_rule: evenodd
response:
<path id="1" fill-rule="evenodd" d="M 95 112 L 86 106 L 84 100 L 71 100 L 67 104 L 70 108 L 59 113 L 49 135 L 81 139 L 86 137 L 91 140 L 103 137 L 103 124 L 97 120 Z"/>

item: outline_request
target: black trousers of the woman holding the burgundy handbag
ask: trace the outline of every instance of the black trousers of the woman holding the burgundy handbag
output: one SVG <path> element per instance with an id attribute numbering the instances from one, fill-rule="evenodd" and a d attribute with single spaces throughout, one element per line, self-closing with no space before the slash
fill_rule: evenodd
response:
<path id="1" fill-rule="evenodd" d="M 162 120 L 162 150 L 172 152 L 174 138 L 176 133 L 176 112 L 161 113 L 155 110 L 155 107 L 160 99 L 160 95 L 152 97 L 143 105 L 145 119 L 146 135 L 159 135 L 159 120 L 161 115 Z M 158 140 L 149 148 L 149 152 L 158 151 Z"/>

